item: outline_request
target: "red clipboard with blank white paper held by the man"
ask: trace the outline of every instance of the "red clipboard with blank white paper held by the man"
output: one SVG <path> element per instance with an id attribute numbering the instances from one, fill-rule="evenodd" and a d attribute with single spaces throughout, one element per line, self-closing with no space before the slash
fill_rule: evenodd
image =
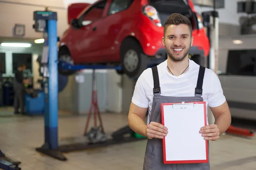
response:
<path id="1" fill-rule="evenodd" d="M 163 138 L 163 163 L 208 162 L 208 142 L 200 128 L 207 125 L 205 102 L 161 104 L 162 124 L 168 128 Z"/>

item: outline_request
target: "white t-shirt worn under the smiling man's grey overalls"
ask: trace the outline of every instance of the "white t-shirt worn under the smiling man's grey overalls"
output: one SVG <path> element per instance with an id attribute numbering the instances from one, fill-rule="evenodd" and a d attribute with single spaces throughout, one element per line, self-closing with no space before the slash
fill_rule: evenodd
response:
<path id="1" fill-rule="evenodd" d="M 195 96 L 195 87 L 198 80 L 199 65 L 189 59 L 189 68 L 180 76 L 174 76 L 168 72 L 167 60 L 157 65 L 159 82 L 162 96 Z M 151 116 L 153 102 L 154 81 L 151 68 L 146 69 L 138 78 L 132 102 L 141 107 L 148 108 L 148 123 Z M 226 98 L 221 88 L 221 83 L 217 75 L 206 68 L 203 82 L 204 101 L 209 107 L 222 105 Z M 206 109 L 207 110 L 207 109 Z M 208 125 L 208 119 L 207 119 Z"/>

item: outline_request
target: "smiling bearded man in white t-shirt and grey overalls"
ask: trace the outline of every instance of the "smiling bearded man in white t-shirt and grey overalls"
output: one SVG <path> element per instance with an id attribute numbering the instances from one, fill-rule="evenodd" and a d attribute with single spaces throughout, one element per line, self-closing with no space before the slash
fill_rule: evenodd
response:
<path id="1" fill-rule="evenodd" d="M 198 129 L 207 141 L 219 139 L 230 126 L 230 111 L 220 81 L 212 70 L 188 58 L 192 44 L 189 19 L 181 14 L 169 16 L 163 37 L 168 59 L 146 69 L 135 85 L 128 123 L 136 133 L 148 137 L 143 170 L 210 169 L 209 163 L 163 164 L 162 139 L 168 135 L 168 129 L 161 124 L 161 103 L 205 101 L 215 117 L 213 125 L 208 125 L 207 121 L 207 126 Z M 148 124 L 145 124 L 143 119 L 147 110 Z"/>

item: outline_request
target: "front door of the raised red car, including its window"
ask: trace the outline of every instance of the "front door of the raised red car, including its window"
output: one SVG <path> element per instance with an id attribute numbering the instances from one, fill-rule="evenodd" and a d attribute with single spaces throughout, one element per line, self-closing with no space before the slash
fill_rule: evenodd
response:
<path id="1" fill-rule="evenodd" d="M 102 17 L 105 11 L 105 6 L 108 0 L 102 0 L 91 6 L 79 18 L 82 34 L 77 41 L 76 48 L 80 51 L 79 60 L 81 62 L 90 62 L 90 59 L 95 59 L 96 51 L 99 50 L 97 42 L 99 42 L 99 24 L 102 22 Z"/>

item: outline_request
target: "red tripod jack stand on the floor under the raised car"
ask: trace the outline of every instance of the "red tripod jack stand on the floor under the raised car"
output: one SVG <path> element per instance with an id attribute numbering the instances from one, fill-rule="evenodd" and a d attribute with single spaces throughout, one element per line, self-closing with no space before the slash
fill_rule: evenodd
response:
<path id="1" fill-rule="evenodd" d="M 102 119 L 101 119 L 101 116 L 100 116 L 99 107 L 98 107 L 97 90 L 96 90 L 96 78 L 95 77 L 96 77 L 96 73 L 95 73 L 95 69 L 93 69 L 93 91 L 92 91 L 92 97 L 91 97 L 90 110 L 89 110 L 89 114 L 88 114 L 88 117 L 87 117 L 87 122 L 86 122 L 86 125 L 85 125 L 84 136 L 87 136 L 87 129 L 88 129 L 89 121 L 90 121 L 90 116 L 92 114 L 92 110 L 93 110 L 93 115 L 94 115 L 94 127 L 97 128 L 97 116 L 98 116 L 101 131 L 102 131 L 102 133 L 105 133 L 104 129 L 103 129 L 103 125 L 102 125 Z"/>

